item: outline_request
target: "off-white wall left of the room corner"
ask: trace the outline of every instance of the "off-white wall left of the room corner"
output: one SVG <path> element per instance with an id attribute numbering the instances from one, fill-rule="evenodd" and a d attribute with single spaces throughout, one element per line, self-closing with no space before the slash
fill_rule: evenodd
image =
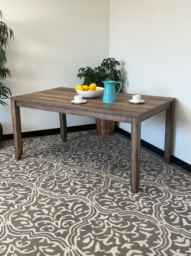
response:
<path id="1" fill-rule="evenodd" d="M 7 49 L 13 96 L 79 84 L 80 67 L 109 57 L 109 0 L 1 0 L 3 21 L 13 29 Z M 9 106 L 0 105 L 4 134 L 13 133 Z M 22 131 L 59 127 L 58 113 L 20 108 Z M 94 123 L 67 115 L 67 125 Z"/>

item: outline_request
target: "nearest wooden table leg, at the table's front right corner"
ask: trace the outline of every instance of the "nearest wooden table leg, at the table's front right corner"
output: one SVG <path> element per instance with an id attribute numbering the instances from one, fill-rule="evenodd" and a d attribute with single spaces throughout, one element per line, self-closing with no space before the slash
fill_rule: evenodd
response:
<path id="1" fill-rule="evenodd" d="M 140 179 L 140 130 L 141 122 L 132 117 L 131 123 L 131 188 L 133 193 L 139 191 Z"/>

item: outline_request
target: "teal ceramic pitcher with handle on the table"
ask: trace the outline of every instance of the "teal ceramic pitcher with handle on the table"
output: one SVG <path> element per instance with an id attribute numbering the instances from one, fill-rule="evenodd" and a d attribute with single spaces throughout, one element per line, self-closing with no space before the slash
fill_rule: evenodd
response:
<path id="1" fill-rule="evenodd" d="M 121 82 L 115 82 L 115 81 L 104 81 L 103 82 L 105 87 L 104 87 L 104 96 L 103 96 L 103 102 L 111 103 L 111 102 L 116 102 L 116 96 L 119 93 L 121 89 Z M 120 88 L 117 93 L 115 93 L 115 84 L 120 83 Z"/>

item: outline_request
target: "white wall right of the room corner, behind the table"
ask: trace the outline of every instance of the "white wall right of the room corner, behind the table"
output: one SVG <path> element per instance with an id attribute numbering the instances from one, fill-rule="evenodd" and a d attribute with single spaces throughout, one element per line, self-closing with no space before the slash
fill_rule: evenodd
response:
<path id="1" fill-rule="evenodd" d="M 191 1 L 110 0 L 110 57 L 125 62 L 128 93 L 176 97 L 173 156 L 191 164 Z M 164 149 L 165 112 L 141 138 Z M 130 125 L 119 127 L 130 131 Z"/>

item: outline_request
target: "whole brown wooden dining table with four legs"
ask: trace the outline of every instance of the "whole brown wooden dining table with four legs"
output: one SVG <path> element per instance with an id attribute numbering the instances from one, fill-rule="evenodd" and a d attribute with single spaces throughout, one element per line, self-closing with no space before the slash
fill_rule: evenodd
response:
<path id="1" fill-rule="evenodd" d="M 63 142 L 67 140 L 66 114 L 131 123 L 130 183 L 134 193 L 139 191 L 141 122 L 166 111 L 164 159 L 166 163 L 171 163 L 175 98 L 141 95 L 144 102 L 133 104 L 129 102 L 132 94 L 118 93 L 114 103 L 103 102 L 101 95 L 97 98 L 83 98 L 86 99 L 83 104 L 73 104 L 71 100 L 74 95 L 76 91 L 73 88 L 57 87 L 10 98 L 17 160 L 23 154 L 20 107 L 25 107 L 58 112 Z"/>

